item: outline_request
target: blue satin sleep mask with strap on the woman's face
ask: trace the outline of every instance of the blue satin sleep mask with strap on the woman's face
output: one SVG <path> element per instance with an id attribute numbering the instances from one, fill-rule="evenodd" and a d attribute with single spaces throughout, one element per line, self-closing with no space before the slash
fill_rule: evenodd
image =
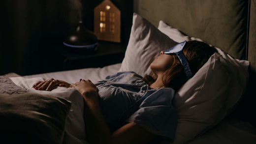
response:
<path id="1" fill-rule="evenodd" d="M 178 58 L 180 59 L 180 61 L 181 61 L 181 64 L 182 64 L 182 66 L 184 68 L 184 71 L 186 73 L 187 79 L 190 79 L 190 78 L 192 78 L 192 72 L 190 70 L 189 63 L 186 60 L 186 58 L 185 58 L 185 56 L 184 56 L 184 54 L 182 52 L 186 42 L 187 41 L 184 41 L 184 42 L 181 42 L 181 43 L 175 45 L 174 47 L 166 50 L 164 52 L 164 54 L 176 54 L 178 56 Z"/>

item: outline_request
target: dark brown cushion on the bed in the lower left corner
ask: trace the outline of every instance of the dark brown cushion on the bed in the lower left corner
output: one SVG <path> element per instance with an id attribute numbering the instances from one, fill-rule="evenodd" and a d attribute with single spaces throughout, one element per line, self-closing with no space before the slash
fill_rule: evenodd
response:
<path id="1" fill-rule="evenodd" d="M 61 144 L 71 103 L 37 93 L 0 93 L 0 142 Z"/>

